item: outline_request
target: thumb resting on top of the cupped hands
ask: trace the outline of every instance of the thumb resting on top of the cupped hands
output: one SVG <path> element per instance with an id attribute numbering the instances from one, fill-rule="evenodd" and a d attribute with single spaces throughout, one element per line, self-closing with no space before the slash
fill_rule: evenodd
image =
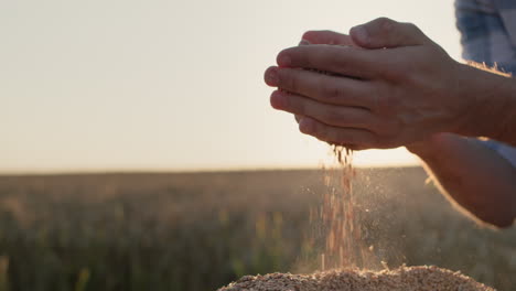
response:
<path id="1" fill-rule="evenodd" d="M 401 23 L 388 18 L 375 19 L 350 30 L 353 41 L 366 48 L 420 45 L 431 42 L 412 23 Z"/>

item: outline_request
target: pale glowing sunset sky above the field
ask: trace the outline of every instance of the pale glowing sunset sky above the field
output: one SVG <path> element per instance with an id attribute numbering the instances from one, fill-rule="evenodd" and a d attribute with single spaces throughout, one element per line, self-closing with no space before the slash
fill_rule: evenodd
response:
<path id="1" fill-rule="evenodd" d="M 451 0 L 1 1 L 0 172 L 319 166 L 329 147 L 271 109 L 264 72 L 307 30 L 378 17 L 460 60 Z"/>

